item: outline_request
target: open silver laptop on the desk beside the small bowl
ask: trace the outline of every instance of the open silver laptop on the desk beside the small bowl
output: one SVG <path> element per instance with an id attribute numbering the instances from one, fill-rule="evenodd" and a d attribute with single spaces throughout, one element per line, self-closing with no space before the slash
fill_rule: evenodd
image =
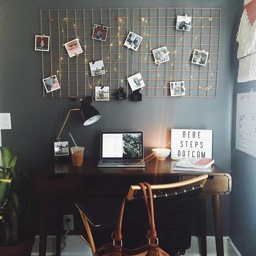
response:
<path id="1" fill-rule="evenodd" d="M 143 132 L 101 132 L 98 167 L 145 167 Z"/>

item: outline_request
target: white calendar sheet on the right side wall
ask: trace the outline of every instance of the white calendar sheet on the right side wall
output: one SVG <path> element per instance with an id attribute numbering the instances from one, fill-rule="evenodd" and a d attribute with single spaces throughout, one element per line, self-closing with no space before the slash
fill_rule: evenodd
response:
<path id="1" fill-rule="evenodd" d="M 256 92 L 237 94 L 236 149 L 256 157 Z"/>

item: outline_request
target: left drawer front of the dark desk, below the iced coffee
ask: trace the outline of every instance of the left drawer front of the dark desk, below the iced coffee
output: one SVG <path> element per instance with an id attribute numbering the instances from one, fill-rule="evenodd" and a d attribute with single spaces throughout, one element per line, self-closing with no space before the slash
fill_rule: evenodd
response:
<path id="1" fill-rule="evenodd" d="M 36 176 L 33 179 L 35 192 L 78 192 L 77 176 Z"/>

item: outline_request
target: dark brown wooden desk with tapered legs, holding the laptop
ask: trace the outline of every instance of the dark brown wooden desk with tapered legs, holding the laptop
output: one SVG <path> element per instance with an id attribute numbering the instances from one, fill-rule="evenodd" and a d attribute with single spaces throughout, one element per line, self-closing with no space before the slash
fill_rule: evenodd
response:
<path id="1" fill-rule="evenodd" d="M 40 168 L 33 177 L 34 191 L 41 197 L 39 256 L 45 256 L 47 240 L 47 218 L 49 197 L 63 195 L 87 195 L 97 197 L 125 196 L 130 185 L 139 182 L 150 184 L 170 183 L 199 176 L 202 172 L 172 171 L 176 161 L 160 161 L 155 158 L 146 162 L 144 168 L 98 168 L 98 159 L 85 158 L 83 167 L 72 164 L 52 163 Z M 231 176 L 214 165 L 207 172 L 208 180 L 202 190 L 202 255 L 207 256 L 205 199 L 212 198 L 217 256 L 224 256 L 221 199 L 231 191 Z M 62 230 L 62 216 L 59 213 L 59 228 Z M 60 256 L 60 232 L 56 237 L 56 255 Z"/>

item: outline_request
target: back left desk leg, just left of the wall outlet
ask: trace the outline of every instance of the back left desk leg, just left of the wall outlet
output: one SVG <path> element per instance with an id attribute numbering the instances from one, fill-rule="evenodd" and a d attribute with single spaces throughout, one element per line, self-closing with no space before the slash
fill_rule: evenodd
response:
<path id="1" fill-rule="evenodd" d="M 63 226 L 62 220 L 62 200 L 61 198 L 55 198 L 55 209 L 56 209 L 56 256 L 60 256 L 61 248 L 61 231 Z"/>

